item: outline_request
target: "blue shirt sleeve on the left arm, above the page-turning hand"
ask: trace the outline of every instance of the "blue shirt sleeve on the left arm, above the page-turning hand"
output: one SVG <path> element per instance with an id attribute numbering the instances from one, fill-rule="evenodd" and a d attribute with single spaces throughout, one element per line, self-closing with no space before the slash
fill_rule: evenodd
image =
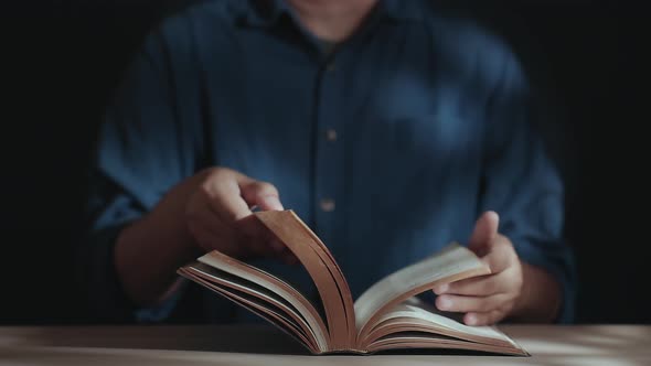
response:
<path id="1" fill-rule="evenodd" d="M 172 185 L 192 174 L 192 141 L 175 109 L 164 39 L 152 33 L 109 104 L 89 176 L 89 219 L 79 248 L 81 278 L 95 320 L 157 321 L 175 298 L 139 309 L 121 288 L 114 247 L 121 229 L 146 215 Z"/>

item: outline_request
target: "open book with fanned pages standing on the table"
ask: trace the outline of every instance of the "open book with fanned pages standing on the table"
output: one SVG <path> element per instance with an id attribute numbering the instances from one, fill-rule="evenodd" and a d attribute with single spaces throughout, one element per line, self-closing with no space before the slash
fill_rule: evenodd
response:
<path id="1" fill-rule="evenodd" d="M 451 244 L 381 279 L 353 302 L 334 258 L 292 211 L 255 215 L 305 266 L 322 313 L 287 282 L 220 251 L 178 272 L 277 325 L 313 354 L 445 348 L 529 355 L 497 327 L 467 326 L 415 297 L 439 283 L 490 273 L 465 247 Z"/>

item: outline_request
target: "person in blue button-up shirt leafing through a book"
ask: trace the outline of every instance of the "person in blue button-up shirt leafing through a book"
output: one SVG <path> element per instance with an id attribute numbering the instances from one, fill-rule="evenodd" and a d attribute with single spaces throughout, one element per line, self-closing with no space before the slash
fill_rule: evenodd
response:
<path id="1" fill-rule="evenodd" d="M 164 321 L 189 291 L 175 270 L 213 249 L 314 294 L 246 219 L 291 208 L 353 297 L 459 240 L 492 273 L 434 289 L 438 309 L 470 325 L 570 322 L 563 184 L 532 96 L 505 42 L 434 1 L 215 0 L 177 13 L 145 41 L 100 129 L 82 248 L 93 309 Z M 249 320 L 203 298 L 206 322 Z"/>

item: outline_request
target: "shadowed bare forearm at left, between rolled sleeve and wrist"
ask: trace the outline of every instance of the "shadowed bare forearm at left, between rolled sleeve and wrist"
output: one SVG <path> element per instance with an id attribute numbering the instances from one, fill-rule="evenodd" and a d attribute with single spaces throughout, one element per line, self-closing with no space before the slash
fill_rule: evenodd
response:
<path id="1" fill-rule="evenodd" d="M 120 233 L 115 246 L 115 267 L 127 295 L 148 306 L 172 292 L 175 270 L 199 254 L 177 217 L 157 213 Z"/>

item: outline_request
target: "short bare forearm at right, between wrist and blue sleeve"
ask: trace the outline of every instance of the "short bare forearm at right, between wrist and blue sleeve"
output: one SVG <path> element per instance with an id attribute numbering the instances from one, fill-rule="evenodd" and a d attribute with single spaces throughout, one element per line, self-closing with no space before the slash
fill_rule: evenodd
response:
<path id="1" fill-rule="evenodd" d="M 553 322 L 562 302 L 558 282 L 545 270 L 522 262 L 522 293 L 510 319 L 513 321 Z"/>

